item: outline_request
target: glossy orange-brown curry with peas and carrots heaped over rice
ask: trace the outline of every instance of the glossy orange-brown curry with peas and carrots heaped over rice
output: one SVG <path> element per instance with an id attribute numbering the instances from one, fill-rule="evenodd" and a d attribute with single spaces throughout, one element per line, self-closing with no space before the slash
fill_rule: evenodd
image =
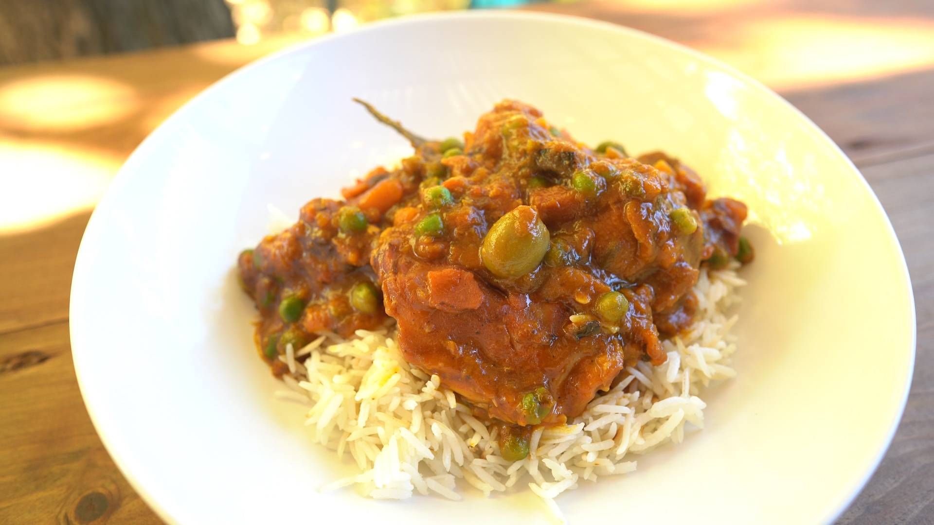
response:
<path id="1" fill-rule="evenodd" d="M 522 103 L 483 115 L 459 149 L 416 146 L 240 256 L 267 362 L 284 342 L 349 336 L 388 315 L 405 359 L 480 416 L 558 423 L 626 367 L 664 362 L 659 336 L 693 319 L 701 262 L 738 251 L 742 203 L 706 200 L 701 179 L 662 153 L 588 149 Z M 360 208 L 365 227 L 342 230 L 343 208 Z M 491 229 L 502 238 L 485 247 Z M 370 282 L 385 312 L 354 306 L 354 287 Z M 280 305 L 294 297 L 290 321 Z"/>

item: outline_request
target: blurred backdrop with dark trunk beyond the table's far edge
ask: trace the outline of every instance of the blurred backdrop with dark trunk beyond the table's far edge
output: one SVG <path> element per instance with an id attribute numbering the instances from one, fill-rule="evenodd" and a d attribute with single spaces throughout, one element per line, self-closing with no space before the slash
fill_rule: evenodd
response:
<path id="1" fill-rule="evenodd" d="M 522 0 L 7 0 L 0 64 L 146 50 L 236 37 L 314 36 L 419 12 L 507 7 Z"/>

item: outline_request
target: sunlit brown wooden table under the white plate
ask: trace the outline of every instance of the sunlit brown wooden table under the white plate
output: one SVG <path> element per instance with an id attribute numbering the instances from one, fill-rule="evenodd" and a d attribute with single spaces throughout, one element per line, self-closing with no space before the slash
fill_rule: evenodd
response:
<path id="1" fill-rule="evenodd" d="M 841 521 L 934 523 L 934 6 L 650 4 L 535 8 L 713 54 L 781 92 L 859 166 L 905 250 L 918 348 L 895 441 Z M 160 121 L 292 40 L 0 68 L 0 523 L 158 522 L 108 457 L 78 392 L 68 343 L 78 242 L 106 182 Z M 50 202 L 43 190 L 53 187 L 68 190 Z"/>

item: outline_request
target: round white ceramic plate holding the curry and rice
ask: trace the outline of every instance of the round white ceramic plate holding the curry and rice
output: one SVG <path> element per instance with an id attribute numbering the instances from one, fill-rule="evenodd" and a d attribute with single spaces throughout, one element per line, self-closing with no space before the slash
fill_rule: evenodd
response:
<path id="1" fill-rule="evenodd" d="M 461 503 L 316 491 L 353 467 L 307 443 L 303 410 L 273 398 L 233 264 L 265 233 L 267 204 L 297 216 L 409 151 L 351 96 L 429 136 L 517 98 L 589 143 L 670 151 L 752 210 L 740 375 L 705 395 L 706 430 L 560 496 L 573 523 L 827 521 L 854 498 L 905 403 L 914 308 L 853 164 L 774 93 L 696 52 L 606 23 L 474 13 L 378 23 L 234 73 L 150 135 L 94 211 L 72 285 L 75 366 L 107 449 L 163 518 L 548 518 L 528 490 Z"/>

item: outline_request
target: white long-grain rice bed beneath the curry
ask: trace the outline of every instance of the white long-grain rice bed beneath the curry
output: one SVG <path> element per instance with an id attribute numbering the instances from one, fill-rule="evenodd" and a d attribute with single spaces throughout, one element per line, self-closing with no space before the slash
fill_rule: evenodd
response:
<path id="1" fill-rule="evenodd" d="M 497 431 L 471 415 L 438 376 L 410 368 L 392 329 L 358 330 L 356 338 L 318 337 L 287 349 L 289 392 L 279 397 L 310 405 L 305 425 L 314 441 L 347 454 L 361 474 L 320 490 L 356 485 L 366 495 L 404 499 L 415 492 L 460 500 L 461 480 L 489 495 L 528 487 L 556 517 L 554 499 L 582 479 L 626 474 L 635 458 L 665 443 L 680 443 L 686 429 L 703 427 L 699 397 L 710 382 L 735 376 L 736 350 L 724 311 L 739 302 L 738 263 L 708 272 L 694 288 L 698 319 L 686 333 L 663 342 L 668 361 L 640 362 L 615 388 L 598 392 L 583 414 L 566 425 L 536 429 L 521 461 L 500 455 Z M 528 476 L 528 477 L 526 477 Z M 526 483 L 519 483 L 523 478 Z"/>

